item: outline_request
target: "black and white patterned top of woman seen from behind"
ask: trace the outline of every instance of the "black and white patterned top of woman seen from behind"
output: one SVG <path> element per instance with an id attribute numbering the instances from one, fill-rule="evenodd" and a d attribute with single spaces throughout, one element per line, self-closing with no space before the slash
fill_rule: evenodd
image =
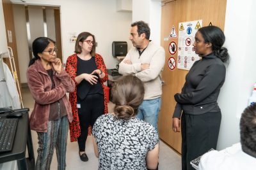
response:
<path id="1" fill-rule="evenodd" d="M 159 142 L 156 129 L 138 118 L 100 116 L 93 125 L 99 150 L 99 169 L 147 169 L 147 152 Z"/>

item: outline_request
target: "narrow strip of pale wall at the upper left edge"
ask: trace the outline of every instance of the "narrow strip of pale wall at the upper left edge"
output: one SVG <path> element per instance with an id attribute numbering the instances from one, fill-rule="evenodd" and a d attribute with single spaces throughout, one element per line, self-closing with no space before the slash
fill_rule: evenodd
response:
<path id="1" fill-rule="evenodd" d="M 0 54 L 8 52 L 2 0 L 0 0 Z"/>

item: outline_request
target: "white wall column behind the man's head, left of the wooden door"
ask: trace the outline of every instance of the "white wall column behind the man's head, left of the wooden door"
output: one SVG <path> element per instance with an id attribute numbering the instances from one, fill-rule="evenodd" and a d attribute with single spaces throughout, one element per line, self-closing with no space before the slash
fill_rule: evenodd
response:
<path id="1" fill-rule="evenodd" d="M 143 20 L 150 27 L 150 39 L 160 45 L 161 1 L 132 0 L 132 22 Z"/>

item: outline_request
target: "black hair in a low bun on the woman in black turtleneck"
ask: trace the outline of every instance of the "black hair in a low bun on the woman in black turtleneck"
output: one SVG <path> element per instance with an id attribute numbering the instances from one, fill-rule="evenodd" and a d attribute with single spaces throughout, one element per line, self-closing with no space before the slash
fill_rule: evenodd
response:
<path id="1" fill-rule="evenodd" d="M 229 62 L 229 54 L 227 48 L 223 47 L 225 42 L 224 32 L 214 25 L 202 27 L 198 29 L 204 38 L 205 43 L 212 44 L 212 52 L 219 57 L 222 62 Z"/>

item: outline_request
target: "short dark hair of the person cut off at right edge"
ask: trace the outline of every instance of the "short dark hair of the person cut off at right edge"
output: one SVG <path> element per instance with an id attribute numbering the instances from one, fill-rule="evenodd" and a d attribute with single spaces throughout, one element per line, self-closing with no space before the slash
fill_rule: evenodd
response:
<path id="1" fill-rule="evenodd" d="M 256 157 L 256 104 L 248 106 L 240 120 L 242 150 Z"/>

